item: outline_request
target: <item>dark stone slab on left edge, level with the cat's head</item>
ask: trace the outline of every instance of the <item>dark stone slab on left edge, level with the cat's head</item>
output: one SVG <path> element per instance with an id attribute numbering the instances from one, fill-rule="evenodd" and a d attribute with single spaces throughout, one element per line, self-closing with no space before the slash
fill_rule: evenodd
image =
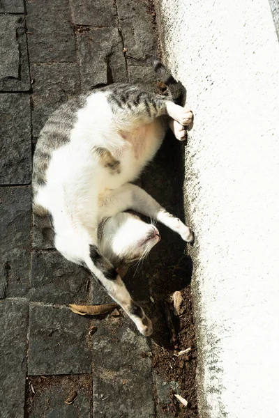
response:
<path id="1" fill-rule="evenodd" d="M 0 189 L 0 297 L 23 297 L 29 288 L 31 189 Z"/>

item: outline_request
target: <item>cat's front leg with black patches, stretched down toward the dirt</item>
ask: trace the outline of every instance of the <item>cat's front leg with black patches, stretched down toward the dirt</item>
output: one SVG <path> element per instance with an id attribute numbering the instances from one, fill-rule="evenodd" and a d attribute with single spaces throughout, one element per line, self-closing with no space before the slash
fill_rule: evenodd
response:
<path id="1" fill-rule="evenodd" d="M 126 311 L 137 329 L 144 335 L 152 334 L 152 323 L 144 310 L 130 297 L 125 284 L 112 263 L 98 252 L 94 245 L 89 245 L 88 254 L 84 256 L 84 262 L 96 279 L 102 284 L 107 293 Z"/>

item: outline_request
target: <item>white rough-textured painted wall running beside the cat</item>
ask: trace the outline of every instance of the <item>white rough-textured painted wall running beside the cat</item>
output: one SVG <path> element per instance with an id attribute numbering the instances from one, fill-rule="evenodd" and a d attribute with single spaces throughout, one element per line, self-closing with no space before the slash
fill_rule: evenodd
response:
<path id="1" fill-rule="evenodd" d="M 158 0 L 195 114 L 186 214 L 204 417 L 279 417 L 279 45 L 268 0 Z"/>

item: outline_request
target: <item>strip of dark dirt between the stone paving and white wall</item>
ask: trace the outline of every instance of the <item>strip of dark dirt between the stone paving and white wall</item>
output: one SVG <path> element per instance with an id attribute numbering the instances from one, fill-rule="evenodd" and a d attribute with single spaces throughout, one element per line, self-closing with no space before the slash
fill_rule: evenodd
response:
<path id="1" fill-rule="evenodd" d="M 156 20 L 154 1 L 144 0 L 144 3 L 153 20 L 153 30 L 158 38 L 158 57 L 161 59 L 163 54 L 160 49 L 160 28 Z M 162 94 L 162 88 L 158 88 Z M 155 160 L 142 175 L 142 187 L 146 192 L 183 222 L 185 146 L 187 141 L 181 143 L 169 132 Z M 154 330 L 151 336 L 152 364 L 161 379 L 178 384 L 176 391 L 169 390 L 169 401 L 160 403 L 158 410 L 166 417 L 198 418 L 195 381 L 197 346 L 190 285 L 193 263 L 188 256 L 186 242 L 179 235 L 160 224 L 158 229 L 162 240 L 152 249 L 153 253 L 151 251 L 145 268 L 151 299 L 154 300 L 151 307 L 150 304 L 146 307 Z M 175 292 L 181 298 L 179 312 L 175 312 L 172 299 Z M 181 354 L 183 350 L 187 350 L 187 353 Z M 183 406 L 175 394 L 185 398 L 188 405 Z M 156 394 L 155 397 L 157 398 Z"/>

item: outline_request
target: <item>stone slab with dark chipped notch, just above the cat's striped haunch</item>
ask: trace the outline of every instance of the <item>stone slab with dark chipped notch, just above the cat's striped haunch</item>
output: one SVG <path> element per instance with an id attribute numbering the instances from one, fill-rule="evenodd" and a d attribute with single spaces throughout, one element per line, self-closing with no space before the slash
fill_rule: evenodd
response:
<path id="1" fill-rule="evenodd" d="M 123 45 L 117 28 L 88 28 L 77 33 L 82 89 L 127 82 Z"/>

